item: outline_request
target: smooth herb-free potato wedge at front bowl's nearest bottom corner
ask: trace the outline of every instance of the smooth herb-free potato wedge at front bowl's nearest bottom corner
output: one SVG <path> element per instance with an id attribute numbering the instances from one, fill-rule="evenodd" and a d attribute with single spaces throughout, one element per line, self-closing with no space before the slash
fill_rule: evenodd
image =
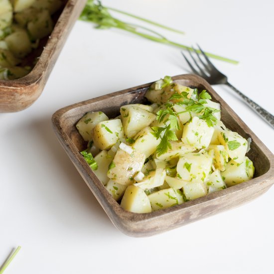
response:
<path id="1" fill-rule="evenodd" d="M 121 207 L 135 213 L 151 212 L 151 205 L 148 197 L 141 188 L 135 185 L 127 187 L 121 201 Z"/>

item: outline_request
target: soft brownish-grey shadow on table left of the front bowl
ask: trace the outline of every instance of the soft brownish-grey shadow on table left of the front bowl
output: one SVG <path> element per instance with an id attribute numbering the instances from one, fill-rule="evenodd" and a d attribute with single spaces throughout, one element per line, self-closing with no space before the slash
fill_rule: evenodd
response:
<path id="1" fill-rule="evenodd" d="M 31 185 L 37 191 L 39 203 L 44 202 L 51 215 L 56 216 L 66 229 L 104 237 L 119 233 L 59 144 L 50 117 L 33 119 L 21 126 L 14 129 L 14 133 L 19 132 L 22 138 L 27 138 L 24 140 L 25 151 L 33 154 L 33 157 L 28 155 L 31 162 L 22 164 L 36 169 L 32 175 L 34 180 L 41 178 Z"/>

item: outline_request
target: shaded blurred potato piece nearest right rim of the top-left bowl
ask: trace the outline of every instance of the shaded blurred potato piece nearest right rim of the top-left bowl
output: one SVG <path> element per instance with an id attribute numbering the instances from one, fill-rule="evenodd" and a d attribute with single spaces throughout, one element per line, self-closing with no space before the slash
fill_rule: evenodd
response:
<path id="1" fill-rule="evenodd" d="M 53 29 L 53 22 L 48 10 L 41 10 L 35 20 L 27 23 L 27 30 L 32 39 L 40 39 L 51 33 Z"/>

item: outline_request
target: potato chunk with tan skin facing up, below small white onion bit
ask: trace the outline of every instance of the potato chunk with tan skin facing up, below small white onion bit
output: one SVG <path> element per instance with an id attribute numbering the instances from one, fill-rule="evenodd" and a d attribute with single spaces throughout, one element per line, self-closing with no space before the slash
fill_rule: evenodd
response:
<path id="1" fill-rule="evenodd" d="M 132 154 L 118 149 L 109 166 L 108 177 L 120 184 L 134 183 L 134 176 L 144 164 L 145 155 L 134 149 Z"/>

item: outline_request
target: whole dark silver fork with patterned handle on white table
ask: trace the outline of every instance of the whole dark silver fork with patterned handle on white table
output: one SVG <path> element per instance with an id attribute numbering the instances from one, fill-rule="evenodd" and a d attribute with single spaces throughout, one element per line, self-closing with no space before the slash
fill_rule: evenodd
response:
<path id="1" fill-rule="evenodd" d="M 198 60 L 201 64 L 198 63 L 198 61 L 194 58 L 193 54 L 190 50 L 188 50 L 189 55 L 191 56 L 191 59 L 193 63 L 196 65 L 197 69 L 194 68 L 194 66 L 191 64 L 191 62 L 186 58 L 183 52 L 182 55 L 184 56 L 186 62 L 190 66 L 193 73 L 201 76 L 204 78 L 209 84 L 211 85 L 217 85 L 217 84 L 224 84 L 229 86 L 232 90 L 234 90 L 238 95 L 241 96 L 241 98 L 244 100 L 244 102 L 251 107 L 261 118 L 263 118 L 273 129 L 274 129 L 274 116 L 263 109 L 261 106 L 259 106 L 257 103 L 252 101 L 250 98 L 245 96 L 243 93 L 241 93 L 238 89 L 236 89 L 234 86 L 232 86 L 227 79 L 227 76 L 221 73 L 209 60 L 209 58 L 206 56 L 204 51 L 198 46 L 200 53 L 203 55 L 205 61 L 201 58 L 199 51 L 193 49 L 193 52 L 196 53 Z"/>

